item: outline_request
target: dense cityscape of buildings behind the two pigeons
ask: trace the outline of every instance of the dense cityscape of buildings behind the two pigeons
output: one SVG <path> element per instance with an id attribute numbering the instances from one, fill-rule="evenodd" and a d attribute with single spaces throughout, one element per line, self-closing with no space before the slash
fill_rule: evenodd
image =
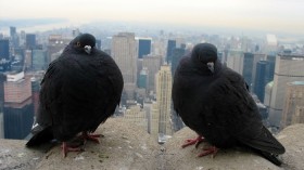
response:
<path id="1" fill-rule="evenodd" d="M 183 127 L 173 109 L 172 83 L 177 65 L 194 44 L 217 47 L 223 64 L 241 74 L 274 133 L 304 122 L 304 42 L 275 34 L 258 37 L 206 34 L 203 30 L 132 29 L 121 26 L 65 27 L 0 31 L 0 139 L 25 139 L 39 105 L 39 88 L 48 65 L 81 32 L 97 38 L 124 77 L 114 117 L 137 123 L 164 143 Z"/>

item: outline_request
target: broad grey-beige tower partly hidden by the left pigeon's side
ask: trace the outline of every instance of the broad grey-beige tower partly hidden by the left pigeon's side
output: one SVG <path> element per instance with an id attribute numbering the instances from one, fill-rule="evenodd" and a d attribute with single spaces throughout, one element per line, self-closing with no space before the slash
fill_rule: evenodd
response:
<path id="1" fill-rule="evenodd" d="M 137 51 L 135 34 L 119 32 L 113 36 L 111 54 L 122 70 L 124 91 L 128 100 L 134 99 L 137 84 Z"/>

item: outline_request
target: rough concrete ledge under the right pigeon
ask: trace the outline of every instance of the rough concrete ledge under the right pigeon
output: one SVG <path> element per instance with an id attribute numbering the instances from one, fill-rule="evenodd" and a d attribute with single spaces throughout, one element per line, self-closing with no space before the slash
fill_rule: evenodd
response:
<path id="1" fill-rule="evenodd" d="M 165 143 L 165 166 L 169 170 L 303 170 L 304 169 L 304 125 L 294 125 L 282 130 L 277 139 L 284 145 L 281 155 L 282 166 L 277 167 L 267 159 L 245 148 L 220 149 L 212 156 L 197 157 L 206 143 L 181 148 L 187 139 L 198 135 L 189 128 L 183 128 Z"/>

